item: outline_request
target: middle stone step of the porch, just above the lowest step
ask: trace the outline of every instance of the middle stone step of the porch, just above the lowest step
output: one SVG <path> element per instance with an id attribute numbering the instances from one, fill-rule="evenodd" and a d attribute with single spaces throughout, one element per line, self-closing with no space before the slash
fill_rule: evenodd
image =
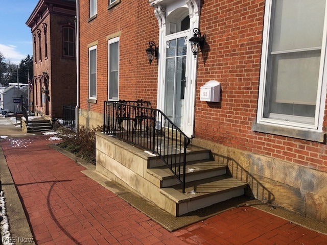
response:
<path id="1" fill-rule="evenodd" d="M 183 166 L 181 165 L 181 174 L 183 173 Z M 173 165 L 172 168 L 179 173 L 179 164 Z M 191 182 L 201 179 L 207 179 L 215 176 L 226 174 L 226 164 L 214 160 L 198 160 L 186 162 L 185 181 Z M 153 184 L 159 184 L 158 187 L 169 187 L 177 185 L 180 182 L 169 169 L 169 167 L 160 166 L 155 168 L 148 168 L 147 173 L 157 178 L 159 181 L 154 181 Z M 151 181 L 151 179 L 149 179 Z"/>

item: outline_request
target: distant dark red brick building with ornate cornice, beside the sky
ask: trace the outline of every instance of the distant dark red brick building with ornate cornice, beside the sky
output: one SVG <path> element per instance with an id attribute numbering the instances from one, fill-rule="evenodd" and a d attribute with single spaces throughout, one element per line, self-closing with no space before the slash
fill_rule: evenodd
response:
<path id="1" fill-rule="evenodd" d="M 26 24 L 33 35 L 35 115 L 61 118 L 76 104 L 75 0 L 40 0 Z"/>

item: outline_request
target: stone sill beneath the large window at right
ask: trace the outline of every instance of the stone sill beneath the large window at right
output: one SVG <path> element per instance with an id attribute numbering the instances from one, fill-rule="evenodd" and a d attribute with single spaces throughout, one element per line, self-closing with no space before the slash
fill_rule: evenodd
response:
<path id="1" fill-rule="evenodd" d="M 324 144 L 326 143 L 326 134 L 323 132 L 289 129 L 289 128 L 263 125 L 257 123 L 254 123 L 252 125 L 252 130 L 260 133 L 267 133 L 267 134 L 281 135 L 281 136 L 297 138 L 297 139 L 316 141 Z"/>

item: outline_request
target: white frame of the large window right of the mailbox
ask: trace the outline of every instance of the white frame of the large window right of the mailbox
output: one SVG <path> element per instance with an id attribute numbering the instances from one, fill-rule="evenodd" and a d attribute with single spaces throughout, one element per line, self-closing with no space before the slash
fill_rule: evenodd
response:
<path id="1" fill-rule="evenodd" d="M 268 49 L 269 49 L 269 33 L 270 33 L 270 21 L 272 17 L 272 1 L 267 0 L 265 6 L 265 17 L 264 17 L 264 31 L 263 31 L 263 44 L 262 44 L 262 57 L 261 57 L 261 71 L 260 71 L 260 85 L 259 85 L 259 100 L 258 100 L 258 114 L 256 123 L 267 126 L 279 126 L 283 128 L 299 129 L 306 131 L 322 132 L 322 122 L 325 109 L 326 100 L 326 89 L 327 79 L 325 78 L 325 71 L 327 70 L 326 65 L 326 36 L 327 36 L 327 4 L 325 6 L 325 18 L 324 28 L 321 46 L 321 58 L 320 58 L 320 69 L 319 69 L 319 81 L 318 91 L 316 100 L 316 111 L 313 124 L 310 123 L 310 119 L 303 117 L 302 121 L 294 122 L 278 119 L 278 116 L 274 119 L 264 118 L 264 101 L 265 101 L 265 89 L 266 89 L 266 76 L 268 69 Z M 309 120 L 308 120 L 309 119 Z"/>

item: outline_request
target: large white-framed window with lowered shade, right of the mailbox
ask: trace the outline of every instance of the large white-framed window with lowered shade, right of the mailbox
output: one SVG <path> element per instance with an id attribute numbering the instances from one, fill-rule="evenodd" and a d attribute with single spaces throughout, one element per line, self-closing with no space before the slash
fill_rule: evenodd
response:
<path id="1" fill-rule="evenodd" d="M 265 12 L 257 123 L 321 129 L 325 1 L 269 0 Z"/>

